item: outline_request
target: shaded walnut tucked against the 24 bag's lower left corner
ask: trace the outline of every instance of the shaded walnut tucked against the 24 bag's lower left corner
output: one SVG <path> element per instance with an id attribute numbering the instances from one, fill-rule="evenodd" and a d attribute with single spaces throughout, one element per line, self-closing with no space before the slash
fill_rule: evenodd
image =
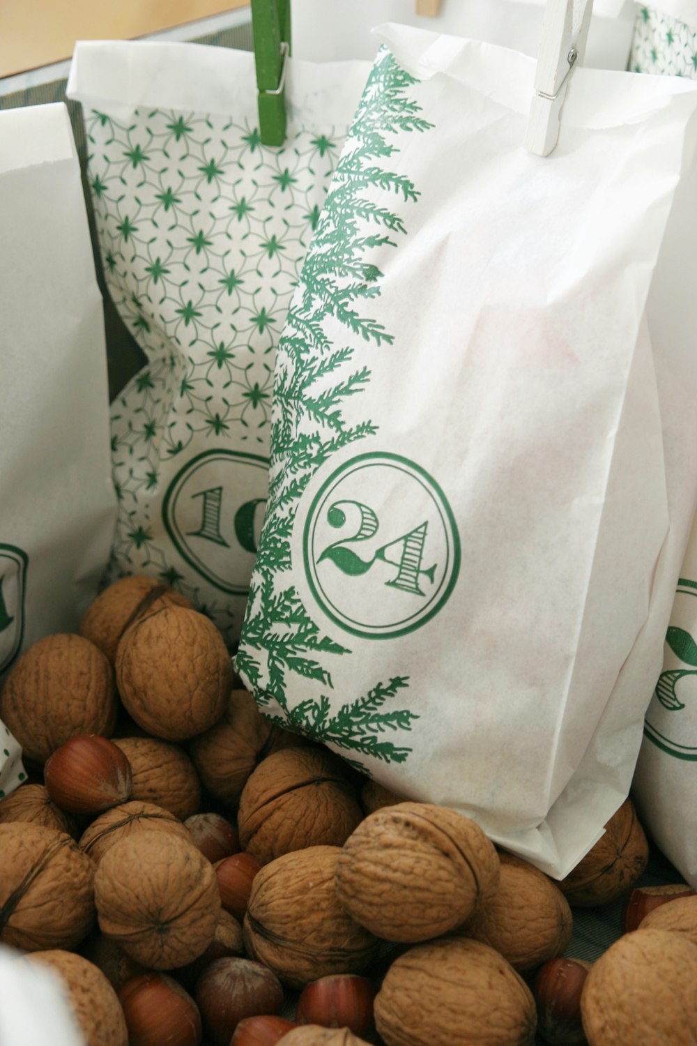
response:
<path id="1" fill-rule="evenodd" d="M 211 795 L 231 806 L 261 759 L 303 740 L 264 719 L 247 690 L 233 690 L 223 719 L 189 742 L 199 776 Z"/>

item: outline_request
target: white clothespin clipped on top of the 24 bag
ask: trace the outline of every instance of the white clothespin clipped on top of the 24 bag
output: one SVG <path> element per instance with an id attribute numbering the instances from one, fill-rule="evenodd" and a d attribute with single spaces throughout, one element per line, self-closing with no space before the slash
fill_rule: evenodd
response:
<path id="1" fill-rule="evenodd" d="M 526 149 L 537 156 L 557 144 L 567 79 L 583 62 L 591 10 L 593 0 L 547 0 L 526 133 Z"/>

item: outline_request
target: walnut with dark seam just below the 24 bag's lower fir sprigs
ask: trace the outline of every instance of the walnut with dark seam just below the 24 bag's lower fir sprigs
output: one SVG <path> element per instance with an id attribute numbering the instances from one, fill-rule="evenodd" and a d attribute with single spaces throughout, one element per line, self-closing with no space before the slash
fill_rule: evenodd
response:
<path id="1" fill-rule="evenodd" d="M 237 828 L 242 849 L 266 864 L 306 846 L 341 846 L 362 820 L 339 758 L 286 748 L 266 756 L 249 777 Z"/>

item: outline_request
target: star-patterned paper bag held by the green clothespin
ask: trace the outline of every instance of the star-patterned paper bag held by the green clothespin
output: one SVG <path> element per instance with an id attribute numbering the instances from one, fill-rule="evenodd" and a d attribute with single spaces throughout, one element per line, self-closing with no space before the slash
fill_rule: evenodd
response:
<path id="1" fill-rule="evenodd" d="M 109 577 L 147 573 L 239 635 L 263 517 L 274 356 L 368 63 L 291 60 L 262 146 L 254 55 L 79 43 L 109 293 L 147 364 L 112 405 Z"/>

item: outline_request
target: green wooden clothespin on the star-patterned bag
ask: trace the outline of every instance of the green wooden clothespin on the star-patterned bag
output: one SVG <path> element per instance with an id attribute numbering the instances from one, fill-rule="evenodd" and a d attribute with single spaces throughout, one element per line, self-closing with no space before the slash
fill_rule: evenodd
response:
<path id="1" fill-rule="evenodd" d="M 291 53 L 291 0 L 252 0 L 252 33 L 263 145 L 285 139 L 285 67 Z"/>

